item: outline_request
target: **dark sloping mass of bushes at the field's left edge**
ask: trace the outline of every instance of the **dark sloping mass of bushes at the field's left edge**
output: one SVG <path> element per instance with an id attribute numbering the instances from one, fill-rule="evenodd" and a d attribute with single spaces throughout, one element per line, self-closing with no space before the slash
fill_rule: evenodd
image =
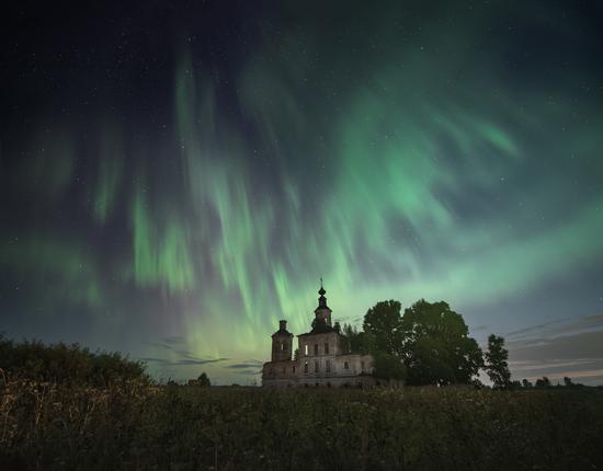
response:
<path id="1" fill-rule="evenodd" d="M 109 387 L 128 380 L 149 381 L 141 361 L 116 352 L 90 352 L 79 344 L 14 342 L 0 335 L 0 381 L 27 378 L 64 384 Z"/>

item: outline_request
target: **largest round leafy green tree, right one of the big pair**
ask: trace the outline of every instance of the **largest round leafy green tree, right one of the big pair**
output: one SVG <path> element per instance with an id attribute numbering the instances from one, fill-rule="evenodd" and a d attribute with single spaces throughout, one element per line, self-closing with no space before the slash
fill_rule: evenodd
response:
<path id="1" fill-rule="evenodd" d="M 444 302 L 424 299 L 405 310 L 400 334 L 409 384 L 471 383 L 483 365 L 463 317 Z"/>

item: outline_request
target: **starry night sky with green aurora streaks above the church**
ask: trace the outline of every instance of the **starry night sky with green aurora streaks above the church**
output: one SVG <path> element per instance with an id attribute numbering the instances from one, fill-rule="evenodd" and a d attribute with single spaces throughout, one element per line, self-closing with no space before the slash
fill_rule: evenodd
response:
<path id="1" fill-rule="evenodd" d="M 280 319 L 446 300 L 603 382 L 598 1 L 20 2 L 0 331 L 259 381 Z"/>

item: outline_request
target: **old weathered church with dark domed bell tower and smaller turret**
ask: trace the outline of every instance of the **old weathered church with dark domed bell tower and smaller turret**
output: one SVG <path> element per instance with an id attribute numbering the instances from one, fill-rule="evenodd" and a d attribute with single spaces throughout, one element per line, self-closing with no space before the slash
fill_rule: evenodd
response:
<path id="1" fill-rule="evenodd" d="M 368 387 L 375 384 L 371 355 L 349 353 L 343 335 L 331 324 L 331 309 L 320 284 L 318 307 L 310 332 L 297 335 L 298 349 L 293 358 L 293 334 L 287 321 L 280 321 L 272 334 L 272 358 L 263 366 L 262 386 L 293 387 Z"/>

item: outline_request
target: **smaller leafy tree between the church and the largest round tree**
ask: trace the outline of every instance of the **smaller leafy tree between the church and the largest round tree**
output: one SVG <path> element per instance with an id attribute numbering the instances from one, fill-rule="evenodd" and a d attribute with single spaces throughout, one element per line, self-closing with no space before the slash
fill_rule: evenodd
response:
<path id="1" fill-rule="evenodd" d="M 364 332 L 374 336 L 375 349 L 389 355 L 401 353 L 402 337 L 399 301 L 379 301 L 364 315 Z"/>

